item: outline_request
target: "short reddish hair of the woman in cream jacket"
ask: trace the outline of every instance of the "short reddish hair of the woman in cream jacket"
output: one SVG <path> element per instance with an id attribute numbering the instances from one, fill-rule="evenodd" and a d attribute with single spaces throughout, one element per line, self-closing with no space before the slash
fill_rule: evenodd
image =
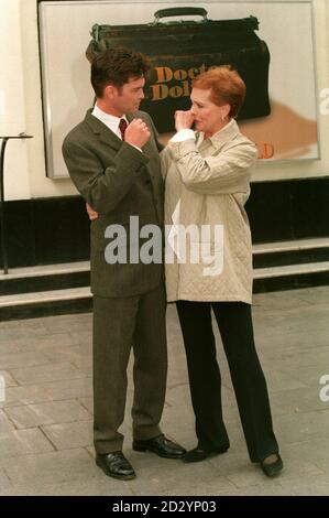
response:
<path id="1" fill-rule="evenodd" d="M 245 97 L 245 84 L 237 71 L 230 65 L 216 66 L 198 75 L 193 87 L 211 89 L 210 99 L 215 105 L 230 105 L 230 118 L 235 118 Z"/>

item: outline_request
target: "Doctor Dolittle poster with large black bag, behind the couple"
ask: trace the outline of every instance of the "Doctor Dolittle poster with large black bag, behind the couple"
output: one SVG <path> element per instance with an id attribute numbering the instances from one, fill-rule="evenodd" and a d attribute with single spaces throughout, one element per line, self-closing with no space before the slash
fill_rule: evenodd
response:
<path id="1" fill-rule="evenodd" d="M 150 56 L 142 109 L 163 142 L 175 110 L 190 106 L 193 78 L 230 64 L 246 84 L 238 122 L 259 159 L 319 158 L 311 1 L 57 1 L 41 2 L 40 14 L 51 176 L 67 175 L 63 138 L 92 105 L 86 50 L 91 60 L 107 46 Z"/>

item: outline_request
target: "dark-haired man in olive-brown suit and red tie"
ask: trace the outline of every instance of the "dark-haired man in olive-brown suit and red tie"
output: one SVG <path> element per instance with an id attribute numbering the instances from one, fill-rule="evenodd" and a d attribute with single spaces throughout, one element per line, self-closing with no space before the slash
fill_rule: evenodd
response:
<path id="1" fill-rule="evenodd" d="M 163 225 L 162 147 L 150 116 L 138 111 L 147 68 L 140 53 L 117 48 L 99 54 L 91 64 L 96 106 L 63 143 L 73 182 L 99 215 L 90 226 L 94 443 L 97 465 L 121 479 L 135 477 L 118 431 L 124 418 L 131 347 L 133 449 L 169 458 L 185 453 L 158 427 L 167 370 L 163 265 L 136 260 L 143 240 L 130 231 L 131 216 L 139 217 L 140 227 Z M 127 263 L 107 261 L 110 225 L 127 231 L 127 247 L 119 244 Z"/>

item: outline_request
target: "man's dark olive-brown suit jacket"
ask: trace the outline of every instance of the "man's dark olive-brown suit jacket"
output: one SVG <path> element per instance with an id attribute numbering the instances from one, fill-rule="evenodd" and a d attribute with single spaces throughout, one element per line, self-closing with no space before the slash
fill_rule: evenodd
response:
<path id="1" fill-rule="evenodd" d="M 129 120 L 132 118 L 128 116 Z M 139 217 L 140 228 L 150 224 L 163 226 L 163 180 L 158 158 L 162 145 L 150 116 L 138 111 L 134 118 L 143 119 L 151 131 L 143 152 L 121 141 L 91 115 L 91 110 L 63 143 L 63 157 L 74 184 L 99 214 L 90 225 L 91 291 L 99 296 L 145 293 L 163 281 L 162 263 L 130 262 L 130 217 Z M 106 261 L 105 251 L 110 241 L 105 231 L 114 224 L 127 230 L 127 263 Z M 140 249 L 142 244 L 143 240 L 139 240 L 135 246 Z"/>

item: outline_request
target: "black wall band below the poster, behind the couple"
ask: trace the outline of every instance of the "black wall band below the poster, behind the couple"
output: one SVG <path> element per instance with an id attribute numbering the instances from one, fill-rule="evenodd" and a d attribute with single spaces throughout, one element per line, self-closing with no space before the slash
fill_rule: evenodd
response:
<path id="1" fill-rule="evenodd" d="M 329 177 L 253 183 L 246 211 L 254 244 L 327 237 Z M 89 257 L 79 196 L 7 202 L 6 222 L 10 268 Z"/>

